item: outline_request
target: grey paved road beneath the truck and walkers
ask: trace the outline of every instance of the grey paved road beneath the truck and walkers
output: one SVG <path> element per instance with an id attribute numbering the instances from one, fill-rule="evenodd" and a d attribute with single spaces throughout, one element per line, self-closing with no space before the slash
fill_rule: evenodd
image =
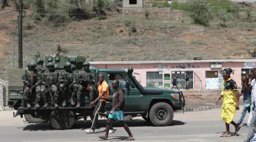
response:
<path id="1" fill-rule="evenodd" d="M 12 118 L 13 111 L 0 112 L 0 139 L 1 141 L 100 141 L 98 136 L 104 135 L 105 120 L 100 120 L 97 133 L 86 134 L 85 129 L 90 122 L 77 121 L 72 130 L 53 130 L 48 123 L 29 124 L 24 119 Z M 225 123 L 220 118 L 221 109 L 176 113 L 171 126 L 154 127 L 137 117 L 127 124 L 136 138 L 136 141 L 242 141 L 245 139 L 248 128 L 242 124 L 241 130 L 230 137 L 220 137 L 225 131 Z M 241 110 L 234 120 L 237 122 Z M 248 114 L 244 120 L 247 122 Z M 122 127 L 114 123 L 115 133 L 109 135 L 109 141 L 125 140 L 127 133 Z M 234 132 L 234 127 L 230 126 Z"/>

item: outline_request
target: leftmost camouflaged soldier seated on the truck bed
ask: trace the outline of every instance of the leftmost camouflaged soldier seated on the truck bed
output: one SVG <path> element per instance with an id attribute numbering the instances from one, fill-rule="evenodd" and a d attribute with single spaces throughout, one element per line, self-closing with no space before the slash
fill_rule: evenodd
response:
<path id="1" fill-rule="evenodd" d="M 27 108 L 31 108 L 29 98 L 32 93 L 32 89 L 34 89 L 34 85 L 36 82 L 36 64 L 35 62 L 31 62 L 27 66 L 27 70 L 25 70 L 22 74 L 22 83 L 24 84 L 24 100 L 27 105 Z"/>

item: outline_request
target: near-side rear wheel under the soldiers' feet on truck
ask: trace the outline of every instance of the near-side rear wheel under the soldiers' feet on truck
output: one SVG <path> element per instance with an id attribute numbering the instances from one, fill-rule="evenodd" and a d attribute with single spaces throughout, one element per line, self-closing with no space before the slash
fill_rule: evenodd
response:
<path id="1" fill-rule="evenodd" d="M 76 120 L 76 114 L 69 110 L 53 110 L 49 116 L 52 128 L 56 130 L 70 129 Z"/>

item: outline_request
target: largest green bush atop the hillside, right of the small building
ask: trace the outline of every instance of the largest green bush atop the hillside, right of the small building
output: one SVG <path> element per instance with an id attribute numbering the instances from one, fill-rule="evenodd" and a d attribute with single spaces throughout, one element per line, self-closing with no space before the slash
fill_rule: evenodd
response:
<path id="1" fill-rule="evenodd" d="M 206 0 L 191 0 L 188 2 L 191 9 L 191 18 L 196 24 L 208 26 L 210 21 L 210 10 Z"/>

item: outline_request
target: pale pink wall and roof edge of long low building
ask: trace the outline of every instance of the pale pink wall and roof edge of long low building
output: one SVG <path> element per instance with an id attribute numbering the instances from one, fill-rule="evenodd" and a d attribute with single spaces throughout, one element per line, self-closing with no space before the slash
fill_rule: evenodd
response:
<path id="1" fill-rule="evenodd" d="M 128 63 L 128 62 L 118 62 L 117 64 L 108 62 L 106 64 L 102 63 L 93 63 L 100 68 L 109 68 L 109 69 L 123 69 L 127 70 L 130 66 L 133 67 L 134 73 L 136 73 L 137 80 L 141 82 L 142 86 L 146 86 L 146 72 L 158 72 L 159 65 L 162 65 L 163 74 L 170 73 L 172 71 L 193 71 L 197 72 L 201 76 L 201 89 L 205 89 L 205 72 L 214 71 L 214 70 L 223 70 L 225 68 L 232 68 L 234 72 L 231 74 L 233 80 L 237 82 L 238 86 L 241 86 L 241 69 L 245 68 L 244 62 L 222 62 L 222 68 L 210 68 L 210 62 L 179 62 L 179 63 L 169 63 L 169 62 L 147 62 L 138 64 L 137 62 Z M 253 61 L 251 61 L 253 62 Z M 255 61 L 254 61 L 255 62 Z M 185 66 L 185 69 L 177 68 L 177 66 Z M 189 67 L 190 66 L 190 67 Z M 252 67 L 251 67 L 252 68 Z M 138 77 L 137 74 L 141 74 L 141 77 Z M 220 74 L 220 76 L 222 76 Z M 199 81 L 199 80 L 194 80 Z M 196 82 L 198 84 L 198 82 Z"/>

